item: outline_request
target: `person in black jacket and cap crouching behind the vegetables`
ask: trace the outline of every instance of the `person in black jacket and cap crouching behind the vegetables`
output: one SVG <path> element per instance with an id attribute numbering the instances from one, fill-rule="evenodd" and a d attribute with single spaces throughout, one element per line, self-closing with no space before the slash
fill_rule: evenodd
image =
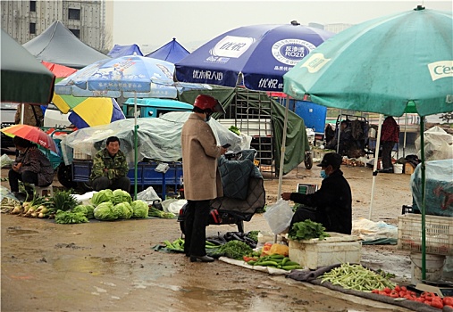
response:
<path id="1" fill-rule="evenodd" d="M 297 222 L 310 219 L 323 224 L 327 232 L 351 234 L 352 230 L 352 194 L 348 181 L 340 170 L 341 155 L 328 152 L 321 167 L 323 183 L 313 194 L 281 193 L 285 201 L 298 202 L 304 206 L 296 210 L 289 229 Z"/>

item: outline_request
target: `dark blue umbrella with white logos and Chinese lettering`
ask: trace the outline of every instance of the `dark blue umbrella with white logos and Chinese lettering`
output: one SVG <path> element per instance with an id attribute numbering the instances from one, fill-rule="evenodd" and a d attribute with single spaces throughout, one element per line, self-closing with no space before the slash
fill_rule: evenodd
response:
<path id="1" fill-rule="evenodd" d="M 184 82 L 282 91 L 282 76 L 333 35 L 295 21 L 232 29 L 176 63 L 176 78 Z"/>

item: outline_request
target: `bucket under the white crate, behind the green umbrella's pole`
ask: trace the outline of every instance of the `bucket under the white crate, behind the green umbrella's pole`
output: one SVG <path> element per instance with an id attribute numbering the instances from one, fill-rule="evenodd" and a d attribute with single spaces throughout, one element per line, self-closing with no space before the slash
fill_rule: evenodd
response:
<path id="1" fill-rule="evenodd" d="M 426 281 L 438 282 L 442 279 L 445 256 L 426 254 Z M 422 283 L 422 253 L 411 252 L 411 283 Z"/>

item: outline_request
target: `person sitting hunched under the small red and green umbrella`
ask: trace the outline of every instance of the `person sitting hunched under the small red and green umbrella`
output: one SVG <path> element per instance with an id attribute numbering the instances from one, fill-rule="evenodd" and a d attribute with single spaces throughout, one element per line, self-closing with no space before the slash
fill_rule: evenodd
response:
<path id="1" fill-rule="evenodd" d="M 19 152 L 13 162 L 13 168 L 8 173 L 11 192 L 18 200 L 23 199 L 23 194 L 19 193 L 19 181 L 25 184 L 28 198 L 33 198 L 33 188 L 31 185 L 46 187 L 54 181 L 55 170 L 47 159 L 46 155 L 38 150 L 36 144 L 19 136 L 13 137 L 13 144 Z"/>

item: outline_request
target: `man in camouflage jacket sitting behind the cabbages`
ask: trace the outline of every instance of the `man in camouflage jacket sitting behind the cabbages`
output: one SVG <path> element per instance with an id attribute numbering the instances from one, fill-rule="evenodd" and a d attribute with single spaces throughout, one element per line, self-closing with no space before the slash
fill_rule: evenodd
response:
<path id="1" fill-rule="evenodd" d="M 95 191 L 105 189 L 122 189 L 130 192 L 130 178 L 126 155 L 120 150 L 120 139 L 110 136 L 105 142 L 105 148 L 96 152 L 91 170 L 91 186 Z"/>

